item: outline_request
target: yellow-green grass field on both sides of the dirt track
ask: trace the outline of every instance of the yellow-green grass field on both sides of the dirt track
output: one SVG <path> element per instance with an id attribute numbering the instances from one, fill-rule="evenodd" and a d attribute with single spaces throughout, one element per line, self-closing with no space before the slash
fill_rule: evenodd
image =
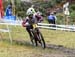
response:
<path id="1" fill-rule="evenodd" d="M 2 25 L 0 28 L 5 26 Z M 32 46 L 29 35 L 23 27 L 10 26 L 10 30 L 13 44 L 10 43 L 7 33 L 0 32 L 0 57 L 68 57 L 59 50 Z M 75 49 L 75 32 L 47 29 L 40 29 L 40 31 L 46 44 Z"/>

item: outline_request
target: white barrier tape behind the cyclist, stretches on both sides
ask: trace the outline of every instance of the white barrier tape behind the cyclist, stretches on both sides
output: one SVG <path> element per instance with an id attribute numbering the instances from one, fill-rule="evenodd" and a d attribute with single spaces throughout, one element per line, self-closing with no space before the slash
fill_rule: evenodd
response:
<path id="1" fill-rule="evenodd" d="M 13 25 L 13 26 L 16 25 L 16 26 L 22 26 L 22 22 L 0 23 L 0 25 Z M 44 28 L 44 29 L 56 29 L 56 30 L 75 31 L 75 25 L 58 25 L 58 24 L 38 23 L 38 26 L 37 27 Z"/>

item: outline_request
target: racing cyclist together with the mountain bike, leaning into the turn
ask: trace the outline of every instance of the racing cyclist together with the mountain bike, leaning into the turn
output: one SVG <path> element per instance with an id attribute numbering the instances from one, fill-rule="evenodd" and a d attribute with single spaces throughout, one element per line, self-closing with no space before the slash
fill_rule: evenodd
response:
<path id="1" fill-rule="evenodd" d="M 44 45 L 43 47 L 45 48 L 45 41 L 39 29 L 37 28 L 37 23 L 41 21 L 42 21 L 42 17 L 41 15 L 39 15 L 39 12 L 33 13 L 32 11 L 29 11 L 29 13 L 27 14 L 27 17 L 22 22 L 22 26 L 26 27 L 26 31 L 28 32 L 30 36 L 30 40 L 32 44 L 35 41 L 35 45 L 37 46 L 38 45 L 37 41 L 38 41 L 41 45 Z M 43 44 L 41 43 L 41 40 Z"/>

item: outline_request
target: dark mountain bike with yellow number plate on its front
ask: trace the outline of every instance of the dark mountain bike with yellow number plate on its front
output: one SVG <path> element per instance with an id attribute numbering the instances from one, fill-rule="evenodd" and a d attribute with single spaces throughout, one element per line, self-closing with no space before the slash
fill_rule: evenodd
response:
<path id="1" fill-rule="evenodd" d="M 39 28 L 37 27 L 37 24 L 33 24 L 33 29 L 30 29 L 32 37 L 31 42 L 34 46 L 38 46 L 40 44 L 43 48 L 46 48 L 45 40 L 40 32 Z"/>

